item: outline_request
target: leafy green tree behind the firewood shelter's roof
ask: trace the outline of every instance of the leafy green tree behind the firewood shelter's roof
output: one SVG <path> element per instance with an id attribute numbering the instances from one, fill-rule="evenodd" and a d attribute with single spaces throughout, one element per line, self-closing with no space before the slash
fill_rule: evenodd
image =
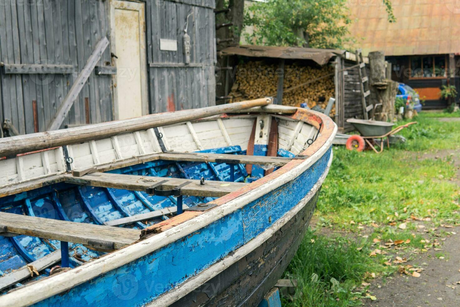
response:
<path id="1" fill-rule="evenodd" d="M 354 42 L 348 0 L 266 0 L 245 12 L 245 25 L 253 26 L 247 41 L 269 46 L 344 48 Z M 382 0 L 389 22 L 395 22 L 391 1 Z"/>

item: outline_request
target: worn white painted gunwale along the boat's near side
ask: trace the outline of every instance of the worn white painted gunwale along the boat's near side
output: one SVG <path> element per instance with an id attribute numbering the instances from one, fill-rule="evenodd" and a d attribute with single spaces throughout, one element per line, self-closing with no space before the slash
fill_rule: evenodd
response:
<path id="1" fill-rule="evenodd" d="M 271 176 L 277 175 L 277 177 L 273 178 L 272 180 L 259 185 L 253 190 L 247 191 L 244 194 L 239 195 L 236 198 L 223 203 L 212 210 L 198 215 L 191 220 L 184 221 L 178 226 L 167 229 L 166 231 L 159 234 L 155 234 L 154 236 L 148 237 L 143 241 L 133 243 L 132 245 L 128 245 L 127 247 L 119 249 L 111 254 L 104 255 L 97 260 L 85 263 L 76 269 L 50 276 L 48 278 L 43 278 L 36 283 L 29 284 L 23 288 L 3 295 L 0 297 L 0 305 L 11 307 L 28 306 L 39 301 L 43 301 L 63 291 L 69 290 L 79 284 L 83 284 L 86 281 L 96 278 L 101 274 L 114 270 L 129 262 L 135 261 L 136 259 L 148 255 L 157 249 L 161 249 L 169 243 L 172 243 L 182 237 L 196 232 L 197 230 L 213 223 L 214 221 L 219 220 L 220 218 L 231 214 L 238 209 L 241 209 L 247 203 L 250 203 L 257 198 L 270 193 L 270 191 L 273 191 L 274 189 L 288 183 L 289 181 L 294 180 L 300 174 L 310 168 L 328 151 L 332 145 L 335 134 L 337 133 L 337 125 L 328 116 L 311 110 L 299 110 L 301 110 L 301 112 L 316 115 L 322 121 L 323 127 L 330 131 L 328 135 L 325 133 L 318 137 L 316 142 L 323 141 L 324 143 L 314 154 L 306 158 L 299 165 L 295 166 L 295 164 L 293 164 L 294 160 L 292 160 L 282 168 L 270 174 Z M 306 151 L 304 151 L 304 153 Z M 284 169 L 286 172 L 280 172 L 282 169 Z M 254 181 L 253 184 L 257 183 L 257 181 Z"/>

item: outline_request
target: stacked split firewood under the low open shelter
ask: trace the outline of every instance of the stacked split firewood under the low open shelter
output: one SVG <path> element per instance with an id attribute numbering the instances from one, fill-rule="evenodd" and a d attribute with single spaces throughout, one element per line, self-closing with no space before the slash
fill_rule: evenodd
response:
<path id="1" fill-rule="evenodd" d="M 276 64 L 266 64 L 263 61 L 253 61 L 239 64 L 236 71 L 236 82 L 231 88 L 230 102 L 237 102 L 248 99 L 256 99 L 265 96 L 276 97 L 278 87 L 279 69 Z M 279 70 L 278 70 L 279 71 Z M 328 77 L 319 79 L 323 76 Z M 316 81 L 314 81 L 316 80 Z M 289 90 L 291 87 L 310 82 L 301 87 Z M 285 66 L 283 104 L 299 107 L 306 102 L 309 108 L 317 104 L 326 109 L 330 97 L 335 97 L 334 68 L 324 66 L 314 68 L 310 66 L 299 66 L 296 64 Z M 324 102 L 319 102 L 324 97 Z M 334 117 L 335 105 L 329 116 Z"/>

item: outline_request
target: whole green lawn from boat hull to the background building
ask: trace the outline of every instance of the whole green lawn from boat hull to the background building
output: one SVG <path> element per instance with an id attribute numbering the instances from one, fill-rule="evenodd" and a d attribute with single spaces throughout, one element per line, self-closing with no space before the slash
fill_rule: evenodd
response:
<path id="1" fill-rule="evenodd" d="M 397 265 L 384 264 L 395 259 L 397 250 L 385 249 L 388 254 L 373 257 L 370 251 L 396 240 L 404 240 L 398 246 L 402 253 L 424 249 L 422 240 L 433 233 L 422 236 L 417 232 L 420 222 L 413 217 L 428 219 L 433 227 L 460 220 L 460 189 L 450 181 L 457 169 L 449 156 L 460 152 L 460 123 L 440 122 L 436 117 L 446 116 L 432 115 L 418 116 L 418 125 L 399 133 L 407 142 L 385 148 L 381 154 L 334 146 L 334 161 L 315 219 L 317 229 L 343 232 L 334 238 L 307 234 L 285 273 L 286 278 L 299 280 L 298 298 L 285 300 L 285 306 L 359 305 L 366 292 L 361 286 L 366 272 L 381 276 L 397 269 Z M 443 151 L 444 158 L 435 158 L 437 150 Z M 421 159 L 426 153 L 431 158 Z M 399 228 L 403 223 L 406 228 Z M 314 274 L 317 280 L 312 279 Z"/>

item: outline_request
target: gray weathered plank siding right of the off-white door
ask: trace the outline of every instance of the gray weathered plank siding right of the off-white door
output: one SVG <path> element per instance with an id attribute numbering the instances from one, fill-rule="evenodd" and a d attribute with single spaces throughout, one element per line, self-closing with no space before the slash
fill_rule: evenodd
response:
<path id="1" fill-rule="evenodd" d="M 152 0 L 147 12 L 150 112 L 215 104 L 214 0 Z M 187 16 L 190 64 L 184 65 L 182 36 Z M 177 40 L 178 51 L 160 50 L 160 39 Z"/>

